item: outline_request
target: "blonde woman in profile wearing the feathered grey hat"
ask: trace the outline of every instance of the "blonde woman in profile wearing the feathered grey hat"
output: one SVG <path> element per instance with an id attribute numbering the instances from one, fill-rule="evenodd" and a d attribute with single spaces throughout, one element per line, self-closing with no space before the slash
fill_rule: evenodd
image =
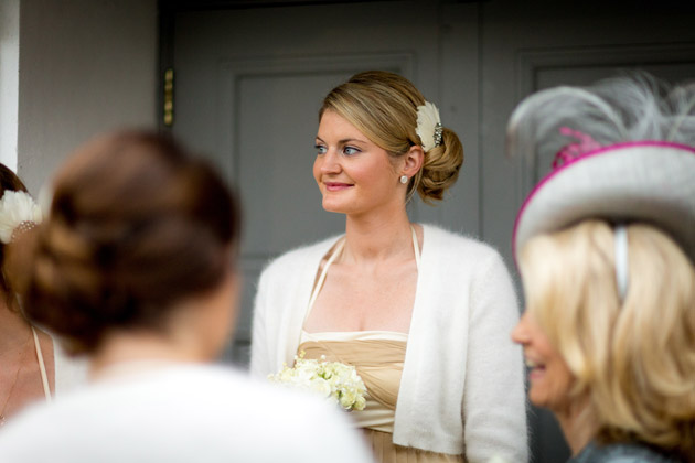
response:
<path id="1" fill-rule="evenodd" d="M 528 396 L 573 462 L 695 462 L 695 88 L 645 75 L 528 97 L 513 154 L 554 171 L 514 230 Z"/>

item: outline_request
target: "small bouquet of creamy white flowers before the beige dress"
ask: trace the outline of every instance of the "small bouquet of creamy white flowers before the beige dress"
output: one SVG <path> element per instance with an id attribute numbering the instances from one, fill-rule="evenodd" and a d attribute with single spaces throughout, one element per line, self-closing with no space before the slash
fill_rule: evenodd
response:
<path id="1" fill-rule="evenodd" d="M 275 375 L 268 375 L 272 383 L 320 394 L 338 403 L 343 410 L 363 410 L 366 387 L 354 366 L 340 362 L 304 359 L 304 353 L 295 356 L 295 366 L 287 365 Z"/>

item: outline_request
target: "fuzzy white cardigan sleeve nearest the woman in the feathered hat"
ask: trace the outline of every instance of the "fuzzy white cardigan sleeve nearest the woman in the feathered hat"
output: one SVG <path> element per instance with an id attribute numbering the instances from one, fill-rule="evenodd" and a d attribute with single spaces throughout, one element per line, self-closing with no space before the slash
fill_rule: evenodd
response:
<path id="1" fill-rule="evenodd" d="M 528 459 L 522 352 L 510 333 L 518 320 L 514 287 L 495 251 L 470 292 L 468 366 L 463 397 L 467 460 Z"/>

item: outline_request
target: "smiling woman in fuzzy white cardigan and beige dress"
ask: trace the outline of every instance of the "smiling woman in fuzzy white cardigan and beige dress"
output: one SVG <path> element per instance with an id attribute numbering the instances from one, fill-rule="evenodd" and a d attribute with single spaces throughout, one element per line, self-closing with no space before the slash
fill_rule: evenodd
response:
<path id="1" fill-rule="evenodd" d="M 410 223 L 415 193 L 442 200 L 463 162 L 458 136 L 404 77 L 354 75 L 319 111 L 313 175 L 345 234 L 270 263 L 256 297 L 252 372 L 296 355 L 354 365 L 367 390 L 351 418 L 377 460 L 526 461 L 518 317 L 496 251 Z"/>

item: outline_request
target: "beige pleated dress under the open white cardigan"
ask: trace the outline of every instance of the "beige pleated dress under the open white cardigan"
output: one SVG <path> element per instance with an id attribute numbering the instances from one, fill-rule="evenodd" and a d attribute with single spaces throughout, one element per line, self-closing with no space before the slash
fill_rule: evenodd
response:
<path id="1" fill-rule="evenodd" d="M 350 417 L 364 435 L 379 463 L 461 463 L 462 455 L 448 455 L 393 443 L 394 418 L 407 334 L 394 332 L 307 333 L 302 331 L 298 353 L 304 358 L 354 365 L 367 390 L 364 410 Z"/>

